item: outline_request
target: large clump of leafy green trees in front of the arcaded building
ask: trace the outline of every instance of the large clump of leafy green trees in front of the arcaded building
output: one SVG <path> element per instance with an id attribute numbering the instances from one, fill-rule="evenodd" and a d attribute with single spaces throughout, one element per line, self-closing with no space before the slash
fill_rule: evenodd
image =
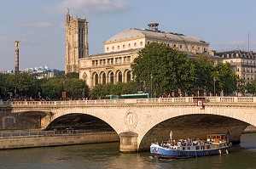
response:
<path id="1" fill-rule="evenodd" d="M 144 83 L 148 91 L 188 94 L 200 91 L 225 94 L 236 90 L 236 76 L 229 64 L 213 65 L 207 56 L 189 59 L 183 52 L 165 43 L 152 42 L 143 48 L 131 65 L 136 82 Z M 214 87 L 216 85 L 216 87 Z"/>

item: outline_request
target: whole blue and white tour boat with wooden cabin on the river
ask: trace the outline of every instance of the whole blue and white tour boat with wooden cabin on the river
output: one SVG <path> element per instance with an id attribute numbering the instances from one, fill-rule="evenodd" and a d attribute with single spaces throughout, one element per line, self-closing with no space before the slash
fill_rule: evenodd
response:
<path id="1" fill-rule="evenodd" d="M 170 140 L 161 144 L 151 144 L 150 153 L 158 158 L 181 159 L 228 154 L 231 146 L 229 134 L 209 134 L 207 140 L 186 138 L 175 141 L 172 139 L 171 131 Z"/>

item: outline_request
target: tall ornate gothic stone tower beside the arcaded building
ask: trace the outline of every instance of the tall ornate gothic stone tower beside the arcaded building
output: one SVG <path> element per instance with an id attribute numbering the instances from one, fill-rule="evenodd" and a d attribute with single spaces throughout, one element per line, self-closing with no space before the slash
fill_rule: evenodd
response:
<path id="1" fill-rule="evenodd" d="M 89 55 L 88 22 L 76 16 L 74 19 L 67 9 L 65 73 L 79 73 L 79 59 Z"/>

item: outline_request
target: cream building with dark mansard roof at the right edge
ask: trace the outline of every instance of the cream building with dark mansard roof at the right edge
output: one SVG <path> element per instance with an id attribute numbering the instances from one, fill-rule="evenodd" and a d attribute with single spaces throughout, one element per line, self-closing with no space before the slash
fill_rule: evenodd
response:
<path id="1" fill-rule="evenodd" d="M 256 53 L 253 51 L 231 50 L 215 54 L 220 56 L 224 63 L 230 63 L 236 76 L 244 82 L 256 80 Z"/>

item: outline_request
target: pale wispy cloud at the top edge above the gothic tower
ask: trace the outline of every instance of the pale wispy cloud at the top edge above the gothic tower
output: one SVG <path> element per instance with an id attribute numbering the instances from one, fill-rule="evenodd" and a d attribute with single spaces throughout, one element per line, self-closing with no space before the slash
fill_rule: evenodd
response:
<path id="1" fill-rule="evenodd" d="M 55 7 L 45 7 L 49 13 L 64 14 L 67 8 L 77 14 L 106 14 L 120 13 L 131 8 L 131 4 L 125 0 L 63 0 Z"/>

